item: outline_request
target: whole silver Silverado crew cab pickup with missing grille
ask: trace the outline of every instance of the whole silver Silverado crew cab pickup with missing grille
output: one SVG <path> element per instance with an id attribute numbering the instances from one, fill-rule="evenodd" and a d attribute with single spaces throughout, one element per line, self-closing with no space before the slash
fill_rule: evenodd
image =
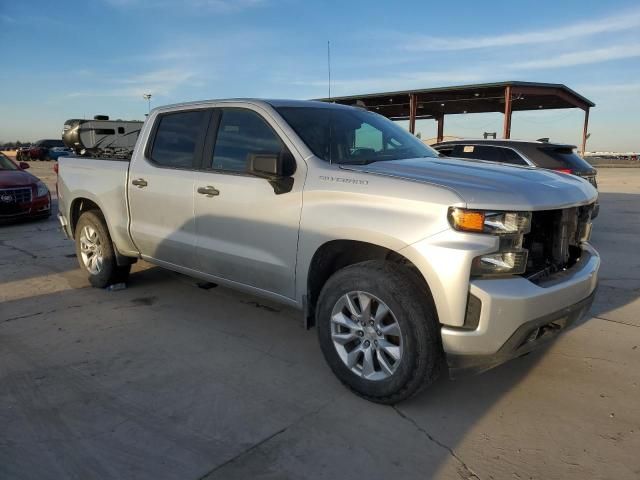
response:
<path id="1" fill-rule="evenodd" d="M 336 376 L 381 403 L 554 337 L 589 309 L 600 265 L 587 181 L 440 160 L 329 103 L 157 108 L 130 161 L 62 158 L 58 191 L 95 287 L 144 259 L 297 307 Z"/>

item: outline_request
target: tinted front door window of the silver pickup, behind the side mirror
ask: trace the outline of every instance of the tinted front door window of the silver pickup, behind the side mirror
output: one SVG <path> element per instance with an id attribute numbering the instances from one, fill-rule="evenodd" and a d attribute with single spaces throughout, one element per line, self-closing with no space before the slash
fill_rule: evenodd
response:
<path id="1" fill-rule="evenodd" d="M 246 172 L 253 155 L 279 155 L 284 148 L 282 140 L 257 113 L 223 109 L 211 168 Z"/>

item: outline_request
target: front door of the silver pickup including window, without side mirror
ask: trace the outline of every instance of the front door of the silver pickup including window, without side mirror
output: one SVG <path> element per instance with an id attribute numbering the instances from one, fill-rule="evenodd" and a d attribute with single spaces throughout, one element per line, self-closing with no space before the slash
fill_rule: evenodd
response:
<path id="1" fill-rule="evenodd" d="M 292 298 L 304 162 L 291 165 L 284 189 L 248 171 L 253 156 L 285 151 L 295 154 L 265 112 L 217 109 L 195 183 L 195 231 L 201 271 Z"/>

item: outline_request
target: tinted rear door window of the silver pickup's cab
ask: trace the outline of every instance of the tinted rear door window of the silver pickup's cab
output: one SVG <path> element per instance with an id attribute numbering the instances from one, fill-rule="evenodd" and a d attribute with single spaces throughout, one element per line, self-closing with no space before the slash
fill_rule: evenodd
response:
<path id="1" fill-rule="evenodd" d="M 208 118 L 209 112 L 205 110 L 161 115 L 151 160 L 162 167 L 193 168 Z"/>

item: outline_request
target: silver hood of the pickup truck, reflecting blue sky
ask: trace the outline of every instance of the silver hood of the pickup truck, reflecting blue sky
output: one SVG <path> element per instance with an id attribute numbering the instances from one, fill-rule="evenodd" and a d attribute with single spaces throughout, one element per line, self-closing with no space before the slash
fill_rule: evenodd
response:
<path id="1" fill-rule="evenodd" d="M 589 182 L 574 175 L 457 158 L 413 158 L 343 165 L 453 190 L 467 208 L 533 211 L 585 205 L 598 198 Z"/>

